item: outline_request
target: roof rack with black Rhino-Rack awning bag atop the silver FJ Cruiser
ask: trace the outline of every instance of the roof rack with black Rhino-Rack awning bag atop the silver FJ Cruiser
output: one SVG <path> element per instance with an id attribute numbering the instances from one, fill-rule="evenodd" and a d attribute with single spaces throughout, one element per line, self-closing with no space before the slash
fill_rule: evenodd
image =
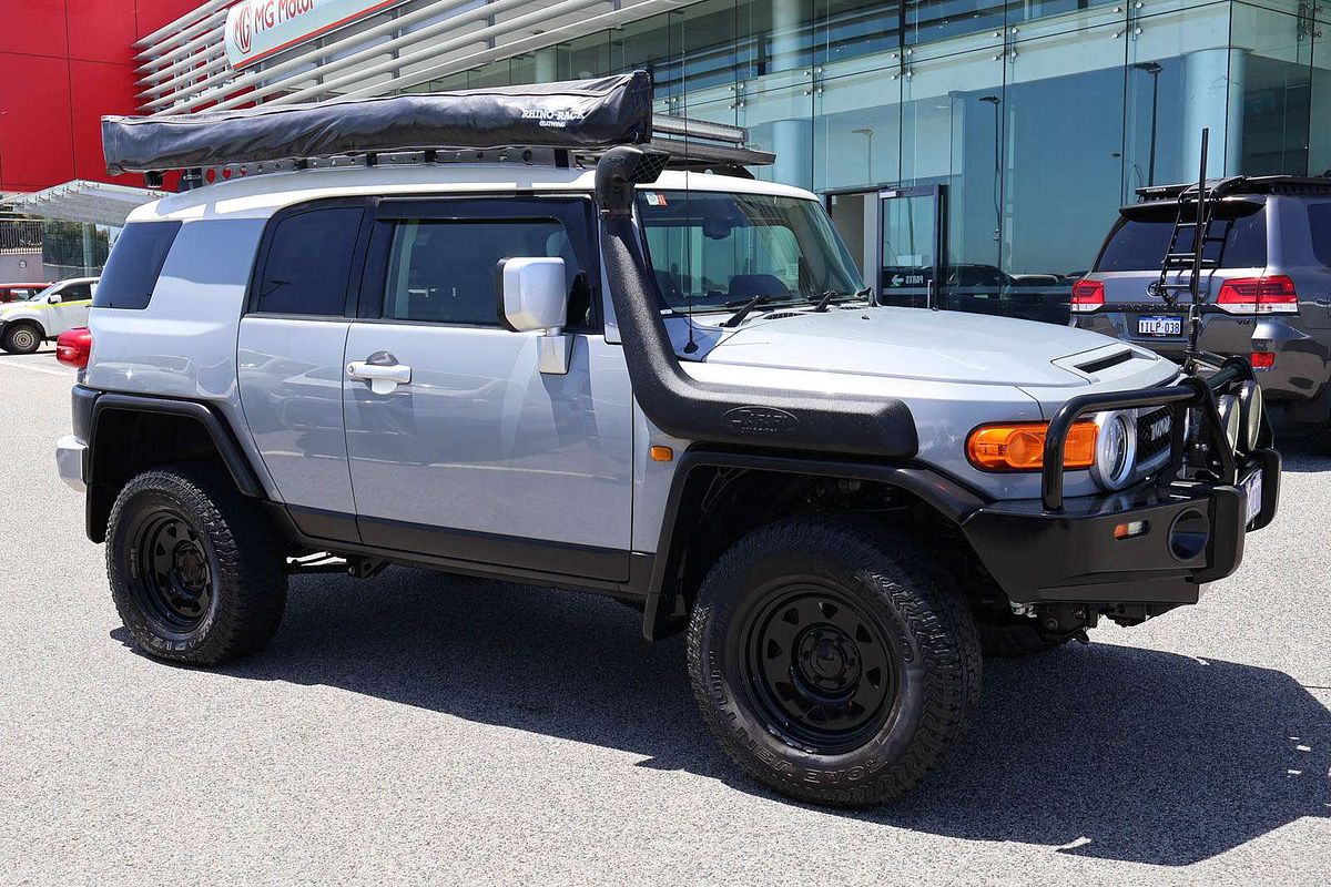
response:
<path id="1" fill-rule="evenodd" d="M 145 173 L 149 184 L 182 172 L 181 186 L 216 176 L 310 166 L 402 162 L 503 162 L 572 166 L 616 145 L 669 154 L 679 169 L 775 161 L 745 146 L 737 126 L 652 114 L 644 70 L 566 82 L 467 89 L 309 105 L 158 117 L 104 117 L 106 170 Z M 160 186 L 160 185 L 158 185 Z"/>

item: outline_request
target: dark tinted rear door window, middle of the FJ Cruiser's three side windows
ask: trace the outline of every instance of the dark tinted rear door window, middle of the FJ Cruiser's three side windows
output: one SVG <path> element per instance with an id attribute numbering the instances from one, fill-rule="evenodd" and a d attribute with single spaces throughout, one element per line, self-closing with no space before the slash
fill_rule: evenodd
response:
<path id="1" fill-rule="evenodd" d="M 341 315 L 365 210 L 314 209 L 277 222 L 258 282 L 256 311 Z"/>

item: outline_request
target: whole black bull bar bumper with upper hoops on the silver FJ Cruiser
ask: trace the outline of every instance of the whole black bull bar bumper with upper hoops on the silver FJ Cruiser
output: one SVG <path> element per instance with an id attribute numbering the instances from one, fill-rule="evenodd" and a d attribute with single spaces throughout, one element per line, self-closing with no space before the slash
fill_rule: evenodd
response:
<path id="1" fill-rule="evenodd" d="M 1275 517 L 1280 456 L 1263 419 L 1258 448 L 1230 448 L 1217 396 L 1252 380 L 1243 359 L 1207 379 L 1070 398 L 1045 436 L 1041 500 L 994 503 L 962 523 L 985 568 L 1017 604 L 1195 604 L 1206 582 L 1243 560 L 1243 541 Z M 1063 451 L 1073 423 L 1098 410 L 1169 407 L 1171 461 L 1155 479 L 1109 496 L 1063 499 Z M 1197 443 L 1185 440 L 1197 422 Z M 1248 520 L 1246 484 L 1262 472 L 1262 503 Z"/>

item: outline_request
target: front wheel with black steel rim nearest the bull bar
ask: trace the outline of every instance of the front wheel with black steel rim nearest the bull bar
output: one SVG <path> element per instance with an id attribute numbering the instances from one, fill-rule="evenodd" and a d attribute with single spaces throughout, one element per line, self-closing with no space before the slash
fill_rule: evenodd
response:
<path id="1" fill-rule="evenodd" d="M 980 694 L 976 625 L 909 537 L 800 517 L 712 568 L 689 620 L 703 719 L 781 794 L 865 806 L 946 757 Z"/>

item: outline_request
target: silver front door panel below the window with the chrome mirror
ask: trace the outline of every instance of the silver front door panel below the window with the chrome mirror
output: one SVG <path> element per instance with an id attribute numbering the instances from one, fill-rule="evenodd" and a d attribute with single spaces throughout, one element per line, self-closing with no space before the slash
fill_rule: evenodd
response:
<path id="1" fill-rule="evenodd" d="M 389 352 L 411 380 L 343 383 L 358 513 L 530 540 L 630 547 L 632 403 L 623 352 L 575 336 L 542 374 L 536 332 L 351 324 L 346 360 Z"/>

